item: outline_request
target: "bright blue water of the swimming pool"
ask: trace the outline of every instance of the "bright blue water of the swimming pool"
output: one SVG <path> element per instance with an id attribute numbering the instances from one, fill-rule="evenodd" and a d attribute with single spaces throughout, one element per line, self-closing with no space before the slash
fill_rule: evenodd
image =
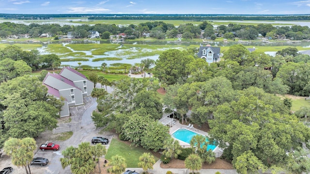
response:
<path id="1" fill-rule="evenodd" d="M 196 132 L 190 131 L 188 129 L 180 128 L 177 131 L 175 131 L 172 136 L 178 140 L 181 140 L 183 142 L 187 142 L 188 144 L 190 143 L 190 140 L 193 138 L 193 136 L 199 135 Z M 206 142 L 209 142 L 208 137 L 206 137 Z M 211 149 L 212 151 L 216 148 L 217 146 L 213 144 L 208 144 L 207 150 Z"/>

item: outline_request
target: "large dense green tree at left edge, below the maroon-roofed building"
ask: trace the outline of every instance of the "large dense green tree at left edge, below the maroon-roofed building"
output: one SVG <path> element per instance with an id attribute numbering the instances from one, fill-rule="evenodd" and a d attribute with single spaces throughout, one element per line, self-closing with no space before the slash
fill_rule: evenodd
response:
<path id="1" fill-rule="evenodd" d="M 34 76 L 22 76 L 0 85 L 0 146 L 8 138 L 37 137 L 56 127 L 62 102 L 47 96 L 47 88 Z"/>

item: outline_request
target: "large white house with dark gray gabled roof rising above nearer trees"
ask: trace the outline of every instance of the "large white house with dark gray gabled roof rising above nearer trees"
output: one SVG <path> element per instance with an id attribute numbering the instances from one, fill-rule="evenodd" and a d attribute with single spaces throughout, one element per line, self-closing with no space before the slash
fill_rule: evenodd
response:
<path id="1" fill-rule="evenodd" d="M 207 63 L 214 63 L 220 61 L 220 47 L 211 47 L 206 45 L 205 47 L 199 47 L 199 52 L 197 56 L 204 59 Z"/>

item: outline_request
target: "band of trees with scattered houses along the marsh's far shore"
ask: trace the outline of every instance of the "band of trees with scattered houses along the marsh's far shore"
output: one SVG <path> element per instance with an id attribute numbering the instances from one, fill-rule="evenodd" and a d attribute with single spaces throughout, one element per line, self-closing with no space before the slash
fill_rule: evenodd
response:
<path id="1" fill-rule="evenodd" d="M 193 38 L 208 38 L 215 40 L 217 37 L 233 39 L 234 37 L 254 40 L 258 36 L 268 37 L 272 39 L 287 38 L 292 40 L 310 39 L 310 28 L 308 26 L 293 25 L 292 27 L 282 26 L 274 27 L 271 24 L 241 25 L 228 24 L 220 25 L 215 28 L 211 23 L 203 21 L 199 25 L 192 23 L 181 24 L 175 27 L 173 24 L 167 24 L 163 21 L 153 21 L 140 23 L 138 25 L 130 24 L 117 26 L 115 24 L 95 24 L 70 26 L 59 24 L 35 24 L 30 25 L 16 24 L 12 22 L 0 23 L 0 37 L 7 38 L 12 35 L 29 33 L 31 37 L 39 37 L 42 33 L 50 33 L 58 39 L 58 36 L 66 35 L 72 32 L 75 38 L 87 38 L 90 35 L 89 31 L 97 31 L 102 39 L 109 39 L 110 35 L 124 33 L 127 39 L 135 39 L 148 36 L 156 39 L 177 38 L 185 39 Z"/>

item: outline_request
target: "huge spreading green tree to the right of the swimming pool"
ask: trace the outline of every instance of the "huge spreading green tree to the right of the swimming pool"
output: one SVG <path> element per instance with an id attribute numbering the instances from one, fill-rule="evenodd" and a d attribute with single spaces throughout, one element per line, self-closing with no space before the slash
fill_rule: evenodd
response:
<path id="1" fill-rule="evenodd" d="M 214 119 L 209 121 L 209 135 L 219 146 L 226 147 L 226 142 L 229 143 L 225 150 L 230 151 L 233 165 L 240 172 L 243 171 L 240 165 L 245 165 L 239 163 L 241 158 L 255 160 L 248 162 L 253 165 L 246 167 L 248 170 L 273 165 L 285 170 L 289 159 L 285 152 L 308 142 L 309 128 L 288 114 L 280 98 L 253 87 L 240 94 L 238 100 L 217 107 Z"/>

